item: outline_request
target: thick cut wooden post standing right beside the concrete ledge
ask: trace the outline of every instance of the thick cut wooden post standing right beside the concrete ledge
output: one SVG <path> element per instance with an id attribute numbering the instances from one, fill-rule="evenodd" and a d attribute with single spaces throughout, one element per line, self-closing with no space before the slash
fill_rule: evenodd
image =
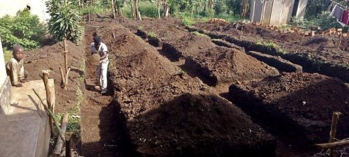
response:
<path id="1" fill-rule="evenodd" d="M 52 106 L 52 100 L 51 100 L 51 89 L 50 89 L 50 84 L 48 84 L 48 75 L 49 71 L 48 70 L 43 70 L 43 82 L 45 84 L 45 91 L 46 91 L 46 103 L 48 108 L 52 111 L 53 106 Z M 55 135 L 54 133 L 54 127 L 53 127 L 53 120 L 51 117 L 49 117 L 49 123 L 50 123 L 50 131 L 51 135 Z"/>

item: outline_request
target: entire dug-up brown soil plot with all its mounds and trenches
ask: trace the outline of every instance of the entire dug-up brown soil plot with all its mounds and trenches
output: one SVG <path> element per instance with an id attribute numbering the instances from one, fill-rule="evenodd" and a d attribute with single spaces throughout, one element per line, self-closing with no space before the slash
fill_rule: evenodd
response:
<path id="1" fill-rule="evenodd" d="M 283 59 L 306 73 L 283 73 L 226 37 L 254 43 L 272 40 L 288 45 L 285 50 L 304 50 L 313 59 L 345 65 L 348 38 L 335 50 L 334 37 L 306 37 L 295 43 L 302 36 L 280 35 L 252 24 L 238 29 L 210 23 L 193 27 L 221 34 L 225 38 L 216 40 L 230 43 L 227 47 L 192 33 L 175 18 L 95 19 L 84 23 L 79 45 L 68 42 L 68 89 L 60 88 L 62 43 L 31 50 L 24 61 L 30 80 L 39 80 L 41 70 L 51 70 L 55 112 L 80 115 L 81 135 L 74 141 L 80 156 L 313 156 L 321 151 L 313 144 L 329 139 L 335 111 L 343 113 L 339 137 L 348 135 L 345 77 L 315 74 L 318 71 L 288 58 Z M 105 95 L 94 89 L 96 66 L 89 52 L 94 33 L 109 50 Z M 276 122 L 269 123 L 272 119 Z M 297 128 L 297 134 L 283 126 Z"/>

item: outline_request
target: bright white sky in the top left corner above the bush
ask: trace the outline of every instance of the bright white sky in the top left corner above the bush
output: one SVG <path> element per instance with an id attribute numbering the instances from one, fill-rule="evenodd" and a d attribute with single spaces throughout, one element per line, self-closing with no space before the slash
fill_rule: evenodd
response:
<path id="1" fill-rule="evenodd" d="M 50 15 L 46 13 L 45 1 L 47 0 L 3 0 L 3 3 L 0 3 L 0 17 L 3 15 L 15 16 L 18 10 L 23 10 L 27 6 L 30 6 L 30 13 L 38 15 L 40 21 L 45 22 L 50 18 Z"/>

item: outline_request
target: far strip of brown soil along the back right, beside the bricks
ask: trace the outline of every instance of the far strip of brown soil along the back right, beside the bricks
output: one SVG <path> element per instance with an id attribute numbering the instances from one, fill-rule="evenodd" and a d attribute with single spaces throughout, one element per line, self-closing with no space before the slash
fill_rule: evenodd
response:
<path id="1" fill-rule="evenodd" d="M 201 23 L 195 25 L 195 27 L 198 29 L 205 29 L 205 25 L 211 26 L 210 23 Z M 313 38 L 306 36 L 302 40 L 303 36 L 299 33 L 279 33 L 278 31 L 265 29 L 252 24 L 236 23 L 225 25 L 223 28 L 215 27 L 205 30 L 223 33 L 228 36 L 234 36 L 235 38 L 253 42 L 270 41 L 280 45 L 286 52 L 309 54 L 313 59 L 349 65 L 349 37 L 343 37 L 341 50 L 339 50 L 339 38 L 337 36 L 315 35 Z"/>

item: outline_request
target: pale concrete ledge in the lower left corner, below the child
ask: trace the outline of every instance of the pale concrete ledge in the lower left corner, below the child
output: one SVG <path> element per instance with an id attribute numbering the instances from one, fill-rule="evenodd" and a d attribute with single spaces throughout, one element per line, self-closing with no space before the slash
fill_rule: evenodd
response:
<path id="1" fill-rule="evenodd" d="M 54 80 L 50 79 L 49 84 L 54 102 Z M 46 98 L 42 80 L 26 82 L 21 88 L 12 87 L 10 106 L 0 117 L 0 156 L 44 157 L 48 154 L 48 117 L 32 89 Z"/>

